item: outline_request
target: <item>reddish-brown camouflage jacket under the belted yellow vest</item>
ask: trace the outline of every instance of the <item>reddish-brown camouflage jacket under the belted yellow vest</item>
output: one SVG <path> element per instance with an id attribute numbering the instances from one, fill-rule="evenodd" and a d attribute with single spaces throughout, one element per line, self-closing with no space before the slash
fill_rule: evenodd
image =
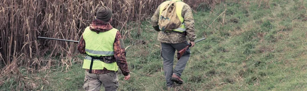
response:
<path id="1" fill-rule="evenodd" d="M 109 31 L 111 29 L 113 29 L 113 27 L 105 21 L 101 21 L 101 20 L 93 20 L 91 25 L 90 25 L 90 29 L 91 31 L 94 31 L 96 33 L 100 33 L 100 32 L 106 32 Z M 80 37 L 79 40 L 79 44 L 78 44 L 78 51 L 81 54 L 85 54 L 85 40 L 83 38 L 83 35 Z M 121 70 L 122 74 L 124 76 L 129 75 L 129 70 L 128 70 L 128 65 L 127 65 L 127 61 L 125 58 L 125 47 L 122 41 L 122 37 L 119 33 L 119 31 L 117 31 L 116 36 L 115 36 L 115 40 L 114 40 L 114 44 L 113 44 L 113 48 L 114 48 L 114 57 L 116 60 L 117 65 L 119 66 L 119 69 Z M 87 72 L 89 72 L 88 69 L 86 69 Z M 93 74 L 106 74 L 109 72 L 113 72 L 107 69 L 103 69 L 103 70 L 92 70 Z"/>

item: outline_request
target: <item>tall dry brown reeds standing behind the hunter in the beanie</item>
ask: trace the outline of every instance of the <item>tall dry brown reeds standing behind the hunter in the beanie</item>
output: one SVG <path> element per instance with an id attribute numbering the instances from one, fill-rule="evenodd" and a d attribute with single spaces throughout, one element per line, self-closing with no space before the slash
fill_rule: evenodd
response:
<path id="1" fill-rule="evenodd" d="M 46 70 L 53 65 L 72 64 L 77 60 L 75 43 L 37 40 L 37 36 L 78 40 L 90 22 L 95 19 L 95 11 L 105 5 L 114 10 L 114 25 L 124 38 L 129 38 L 127 30 L 142 30 L 140 26 L 127 26 L 128 22 L 147 19 L 164 0 L 2 0 L 0 1 L 0 68 L 24 65 L 30 72 Z M 207 4 L 214 8 L 224 0 L 185 0 L 191 8 Z M 134 29 L 135 28 L 135 29 Z M 45 60 L 56 59 L 56 60 Z"/>

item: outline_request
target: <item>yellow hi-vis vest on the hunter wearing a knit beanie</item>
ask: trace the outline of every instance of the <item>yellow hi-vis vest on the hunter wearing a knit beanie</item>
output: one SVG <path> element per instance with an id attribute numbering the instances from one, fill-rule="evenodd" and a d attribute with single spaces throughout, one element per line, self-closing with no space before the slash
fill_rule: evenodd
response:
<path id="1" fill-rule="evenodd" d="M 92 57 L 100 56 L 113 56 L 114 55 L 114 40 L 116 37 L 117 29 L 113 28 L 106 32 L 100 32 L 97 34 L 87 27 L 83 33 L 83 39 L 85 40 L 85 52 L 87 55 L 83 60 L 83 69 L 90 69 Z M 117 71 L 118 65 L 116 62 L 104 63 L 99 59 L 94 59 L 92 69 L 90 70 L 103 70 Z"/>

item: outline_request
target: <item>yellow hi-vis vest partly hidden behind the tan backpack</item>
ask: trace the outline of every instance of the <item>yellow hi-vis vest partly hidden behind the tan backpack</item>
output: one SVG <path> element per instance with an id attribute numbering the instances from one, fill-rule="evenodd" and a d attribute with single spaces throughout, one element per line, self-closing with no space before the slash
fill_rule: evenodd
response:
<path id="1" fill-rule="evenodd" d="M 178 29 L 175 29 L 173 31 L 178 31 L 178 32 L 184 32 L 186 31 L 186 28 L 185 28 L 185 24 L 183 22 L 183 17 L 181 16 L 181 12 L 182 12 L 182 8 L 183 8 L 183 5 L 185 3 L 181 2 L 181 0 L 170 0 L 170 1 L 174 1 L 176 2 L 176 13 L 177 13 L 177 16 L 179 17 L 179 20 L 181 21 L 181 24 L 182 26 Z M 160 13 L 159 13 L 159 16 L 161 15 L 164 7 L 170 2 L 170 1 L 166 1 L 166 2 L 163 2 L 161 4 L 161 7 L 160 7 Z M 159 27 L 160 28 L 160 27 Z M 161 29 L 160 29 L 161 30 Z"/>

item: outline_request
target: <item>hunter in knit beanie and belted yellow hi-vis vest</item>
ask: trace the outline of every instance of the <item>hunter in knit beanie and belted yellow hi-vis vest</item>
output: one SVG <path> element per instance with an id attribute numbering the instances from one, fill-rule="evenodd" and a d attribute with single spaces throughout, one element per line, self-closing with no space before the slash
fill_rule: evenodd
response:
<path id="1" fill-rule="evenodd" d="M 117 71 L 121 70 L 124 80 L 130 78 L 125 47 L 120 32 L 113 28 L 112 10 L 102 6 L 96 11 L 96 19 L 85 28 L 78 44 L 78 51 L 87 54 L 83 60 L 85 90 L 117 90 Z"/>

